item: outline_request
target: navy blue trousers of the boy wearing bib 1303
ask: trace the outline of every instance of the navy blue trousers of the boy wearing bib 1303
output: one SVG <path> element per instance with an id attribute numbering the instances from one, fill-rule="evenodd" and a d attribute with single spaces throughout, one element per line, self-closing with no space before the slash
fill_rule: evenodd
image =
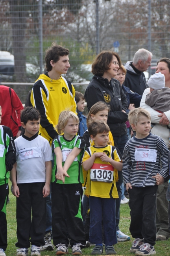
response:
<path id="1" fill-rule="evenodd" d="M 117 243 L 115 203 L 115 198 L 89 196 L 91 216 L 89 242 L 92 244 L 102 244 L 102 216 L 105 245 L 115 245 Z"/>

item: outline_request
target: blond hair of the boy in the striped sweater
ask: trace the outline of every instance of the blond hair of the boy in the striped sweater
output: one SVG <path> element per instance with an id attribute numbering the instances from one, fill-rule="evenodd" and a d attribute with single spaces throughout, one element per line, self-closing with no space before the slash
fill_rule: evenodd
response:
<path id="1" fill-rule="evenodd" d="M 144 108 L 134 108 L 133 110 L 129 111 L 128 119 L 130 125 L 137 125 L 137 122 L 139 122 L 139 119 L 142 115 L 151 120 L 150 112 Z"/>

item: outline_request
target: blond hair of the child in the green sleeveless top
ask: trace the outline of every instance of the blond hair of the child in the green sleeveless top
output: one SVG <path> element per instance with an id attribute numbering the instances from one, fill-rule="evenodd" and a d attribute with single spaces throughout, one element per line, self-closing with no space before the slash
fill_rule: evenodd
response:
<path id="1" fill-rule="evenodd" d="M 79 123 L 79 118 L 74 112 L 68 110 L 62 111 L 59 115 L 58 124 L 55 126 L 55 129 L 57 130 L 58 134 L 63 134 L 63 129 L 67 125 L 69 118 L 72 118 L 75 122 Z"/>

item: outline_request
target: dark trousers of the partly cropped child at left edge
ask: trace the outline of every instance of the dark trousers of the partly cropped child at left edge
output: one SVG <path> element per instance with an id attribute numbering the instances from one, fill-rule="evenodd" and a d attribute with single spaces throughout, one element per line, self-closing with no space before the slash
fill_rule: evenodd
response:
<path id="1" fill-rule="evenodd" d="M 7 220 L 6 204 L 9 194 L 8 184 L 0 186 L 0 248 L 4 251 L 7 248 Z"/>

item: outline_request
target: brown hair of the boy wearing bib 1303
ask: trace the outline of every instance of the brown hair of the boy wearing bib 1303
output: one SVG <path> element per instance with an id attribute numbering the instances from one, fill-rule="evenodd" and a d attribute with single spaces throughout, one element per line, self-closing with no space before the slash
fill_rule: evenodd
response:
<path id="1" fill-rule="evenodd" d="M 109 133 L 110 128 L 106 122 L 102 120 L 91 121 L 89 123 L 88 132 L 90 135 L 93 135 L 93 137 L 96 137 L 97 134 Z"/>

